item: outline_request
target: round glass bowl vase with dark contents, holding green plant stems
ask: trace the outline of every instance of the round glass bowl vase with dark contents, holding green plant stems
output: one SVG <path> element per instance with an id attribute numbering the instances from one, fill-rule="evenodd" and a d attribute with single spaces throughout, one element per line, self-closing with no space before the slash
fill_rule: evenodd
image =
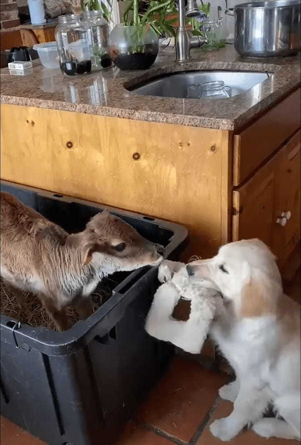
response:
<path id="1" fill-rule="evenodd" d="M 150 27 L 116 25 L 110 33 L 109 49 L 120 70 L 146 70 L 157 58 L 159 39 Z"/>

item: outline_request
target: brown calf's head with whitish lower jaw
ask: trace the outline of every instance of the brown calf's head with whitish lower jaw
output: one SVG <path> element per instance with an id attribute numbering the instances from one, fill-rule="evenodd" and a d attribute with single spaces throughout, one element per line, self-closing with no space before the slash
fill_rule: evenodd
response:
<path id="1" fill-rule="evenodd" d="M 163 246 L 146 240 L 132 226 L 107 211 L 95 215 L 85 230 L 70 235 L 67 243 L 80 248 L 82 264 L 104 266 L 108 273 L 156 265 L 164 256 Z"/>

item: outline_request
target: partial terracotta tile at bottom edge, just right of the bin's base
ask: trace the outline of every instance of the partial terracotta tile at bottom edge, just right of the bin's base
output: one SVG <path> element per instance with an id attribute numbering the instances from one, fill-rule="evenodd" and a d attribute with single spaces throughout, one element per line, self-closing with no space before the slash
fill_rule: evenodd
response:
<path id="1" fill-rule="evenodd" d="M 173 443 L 169 439 L 130 420 L 114 445 L 173 445 Z"/>

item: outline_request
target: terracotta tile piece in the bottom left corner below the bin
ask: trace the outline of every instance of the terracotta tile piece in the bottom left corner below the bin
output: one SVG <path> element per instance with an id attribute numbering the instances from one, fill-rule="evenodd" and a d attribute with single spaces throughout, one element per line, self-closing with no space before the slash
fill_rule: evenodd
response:
<path id="1" fill-rule="evenodd" d="M 1 445 L 46 445 L 4 417 L 1 417 L 0 433 Z"/>

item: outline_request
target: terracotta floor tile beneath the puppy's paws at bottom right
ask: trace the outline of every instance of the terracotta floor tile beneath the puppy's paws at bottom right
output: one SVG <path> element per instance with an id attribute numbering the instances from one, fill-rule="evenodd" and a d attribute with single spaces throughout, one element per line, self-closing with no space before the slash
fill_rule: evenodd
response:
<path id="1" fill-rule="evenodd" d="M 233 403 L 231 402 L 221 400 L 218 403 L 216 410 L 197 441 L 197 445 L 222 445 L 223 443 L 231 443 L 231 445 L 300 445 L 300 442 L 297 440 L 276 439 L 274 437 L 266 439 L 265 437 L 260 437 L 259 435 L 255 434 L 255 432 L 252 430 L 242 431 L 230 442 L 222 442 L 220 439 L 217 439 L 211 434 L 209 425 L 215 419 L 220 419 L 229 415 L 232 409 Z"/>

